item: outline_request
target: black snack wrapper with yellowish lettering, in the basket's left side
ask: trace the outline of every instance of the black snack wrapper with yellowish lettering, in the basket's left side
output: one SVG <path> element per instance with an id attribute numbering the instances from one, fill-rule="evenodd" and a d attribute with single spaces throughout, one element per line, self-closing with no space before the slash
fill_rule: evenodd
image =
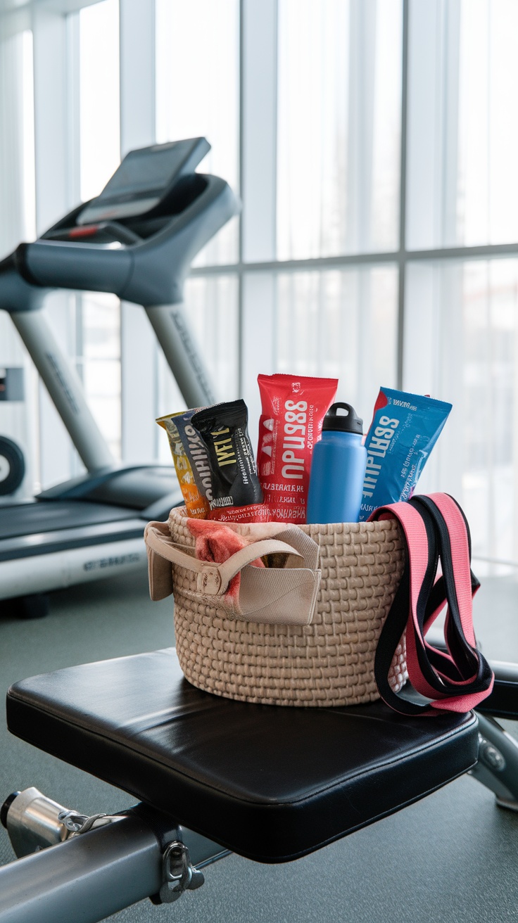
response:
<path id="1" fill-rule="evenodd" d="M 209 452 L 211 509 L 262 503 L 262 490 L 248 437 L 247 404 L 240 398 L 205 407 L 191 417 Z"/>

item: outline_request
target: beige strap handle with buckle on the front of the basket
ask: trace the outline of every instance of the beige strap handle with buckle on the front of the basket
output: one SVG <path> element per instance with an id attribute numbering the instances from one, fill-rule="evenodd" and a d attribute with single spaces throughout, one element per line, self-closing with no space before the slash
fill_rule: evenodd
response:
<path id="1" fill-rule="evenodd" d="M 188 553 L 187 547 L 183 550 L 182 545 L 175 544 L 166 522 L 149 522 L 144 531 L 144 540 L 148 546 L 150 590 L 153 600 L 164 599 L 173 593 L 173 576 L 167 562 L 195 571 L 198 593 L 223 596 L 235 574 L 258 557 L 275 552 L 303 557 L 293 545 L 287 545 L 275 538 L 267 538 L 241 548 L 223 561 L 223 564 L 200 561 L 198 557 Z M 157 560 L 157 555 L 162 560 Z"/>

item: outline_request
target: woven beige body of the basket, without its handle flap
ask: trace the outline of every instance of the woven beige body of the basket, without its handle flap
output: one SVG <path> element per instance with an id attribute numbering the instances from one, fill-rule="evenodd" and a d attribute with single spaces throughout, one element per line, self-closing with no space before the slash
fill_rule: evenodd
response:
<path id="1" fill-rule="evenodd" d="M 172 509 L 173 541 L 194 547 L 183 508 Z M 176 651 L 193 686 L 266 705 L 357 705 L 379 698 L 374 655 L 404 568 L 394 520 L 302 525 L 319 544 L 321 582 L 310 625 L 271 625 L 229 617 L 197 602 L 196 575 L 173 564 Z M 239 528 L 237 527 L 237 531 Z M 407 678 L 404 638 L 389 681 Z"/>

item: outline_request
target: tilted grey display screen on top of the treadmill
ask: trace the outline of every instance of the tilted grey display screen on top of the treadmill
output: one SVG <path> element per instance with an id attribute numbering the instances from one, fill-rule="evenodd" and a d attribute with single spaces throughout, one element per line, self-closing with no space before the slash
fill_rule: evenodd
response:
<path id="1" fill-rule="evenodd" d="M 194 174 L 209 150 L 211 145 L 206 138 L 188 138 L 131 150 L 101 195 L 80 211 L 77 225 L 117 222 L 160 210 L 161 203 L 178 180 Z"/>

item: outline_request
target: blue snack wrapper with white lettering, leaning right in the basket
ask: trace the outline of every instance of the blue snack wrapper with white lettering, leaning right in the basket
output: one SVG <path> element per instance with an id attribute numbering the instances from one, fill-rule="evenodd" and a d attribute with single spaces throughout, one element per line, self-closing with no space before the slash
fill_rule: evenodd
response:
<path id="1" fill-rule="evenodd" d="M 452 404 L 380 388 L 365 447 L 367 470 L 359 521 L 388 503 L 409 500 Z"/>

